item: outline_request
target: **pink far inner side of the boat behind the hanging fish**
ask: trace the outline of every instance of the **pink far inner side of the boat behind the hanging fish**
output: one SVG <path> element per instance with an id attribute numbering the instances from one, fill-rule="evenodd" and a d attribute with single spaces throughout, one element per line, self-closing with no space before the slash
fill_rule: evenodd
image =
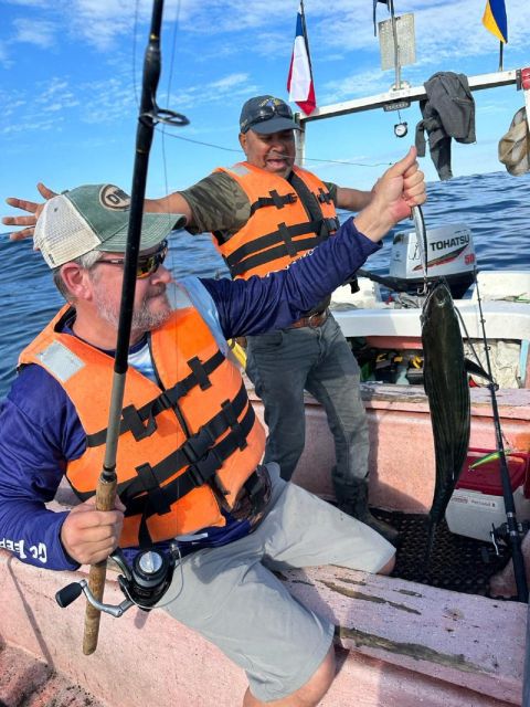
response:
<path id="1" fill-rule="evenodd" d="M 433 431 L 427 398 L 418 386 L 361 384 L 370 431 L 370 503 L 403 513 L 427 513 L 435 479 Z M 263 420 L 263 405 L 250 389 Z M 470 390 L 469 445 L 497 447 L 490 394 Z M 506 446 L 530 450 L 530 389 L 502 389 L 497 402 Z M 325 498 L 333 498 L 330 473 L 335 450 L 326 413 L 306 395 L 306 449 L 293 479 Z"/>

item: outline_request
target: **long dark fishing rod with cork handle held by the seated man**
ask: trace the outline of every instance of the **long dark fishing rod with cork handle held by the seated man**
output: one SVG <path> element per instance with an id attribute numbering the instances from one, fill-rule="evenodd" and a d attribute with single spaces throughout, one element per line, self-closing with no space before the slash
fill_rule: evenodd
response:
<path id="1" fill-rule="evenodd" d="M 149 42 L 144 59 L 141 101 L 136 134 L 136 155 L 130 193 L 129 226 L 124 263 L 124 283 L 118 321 L 118 338 L 114 361 L 114 376 L 108 412 L 107 439 L 103 468 L 96 488 L 96 509 L 113 510 L 116 500 L 116 454 L 124 403 L 126 373 L 132 310 L 136 291 L 136 272 L 141 238 L 141 220 L 146 194 L 147 170 L 152 135 L 157 123 L 183 126 L 189 120 L 171 110 L 160 109 L 156 103 L 158 81 L 161 70 L 160 29 L 162 24 L 163 0 L 153 0 Z M 106 560 L 91 566 L 88 589 L 96 603 L 103 600 L 106 577 Z M 91 655 L 97 647 L 100 610 L 87 602 L 83 653 Z"/>

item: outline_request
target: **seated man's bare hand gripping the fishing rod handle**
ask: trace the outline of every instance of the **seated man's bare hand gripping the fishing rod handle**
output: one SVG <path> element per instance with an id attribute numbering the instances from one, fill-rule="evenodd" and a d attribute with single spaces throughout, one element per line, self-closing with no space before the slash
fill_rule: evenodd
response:
<path id="1" fill-rule="evenodd" d="M 105 560 L 118 547 L 125 506 L 116 498 L 116 510 L 96 510 L 95 497 L 72 508 L 61 529 L 61 541 L 81 564 Z"/>

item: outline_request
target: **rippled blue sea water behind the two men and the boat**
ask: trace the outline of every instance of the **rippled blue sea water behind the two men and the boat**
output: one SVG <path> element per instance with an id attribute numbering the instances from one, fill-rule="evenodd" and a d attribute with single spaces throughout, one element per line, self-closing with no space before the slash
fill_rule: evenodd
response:
<path id="1" fill-rule="evenodd" d="M 427 228 L 466 223 L 473 232 L 480 270 L 530 267 L 530 175 L 506 172 L 459 177 L 428 186 L 424 207 Z M 400 229 L 403 224 L 400 225 Z M 412 222 L 411 222 L 412 229 Z M 389 271 L 391 239 L 365 268 L 384 275 Z M 0 397 L 14 376 L 19 351 L 49 321 L 63 300 L 50 270 L 31 242 L 10 242 L 0 236 L 1 356 Z M 176 276 L 226 273 L 223 261 L 206 234 L 180 232 L 173 238 L 168 265 Z"/>

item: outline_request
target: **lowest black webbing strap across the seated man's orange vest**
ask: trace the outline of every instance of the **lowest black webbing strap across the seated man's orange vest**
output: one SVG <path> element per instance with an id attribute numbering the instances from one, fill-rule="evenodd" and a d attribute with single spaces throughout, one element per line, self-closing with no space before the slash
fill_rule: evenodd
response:
<path id="1" fill-rule="evenodd" d="M 142 495 L 129 498 L 129 488 L 125 489 L 120 494 L 123 503 L 127 506 L 125 515 L 136 516 L 141 514 L 146 517 L 155 514 L 163 515 L 168 513 L 170 506 L 179 500 L 179 498 L 182 498 L 194 488 L 213 482 L 223 463 L 235 450 L 241 449 L 241 435 L 246 437 L 254 425 L 254 410 L 252 405 L 248 405 L 248 410 L 241 421 L 237 432 L 230 432 L 219 444 L 211 447 L 202 458 L 198 460 L 194 464 L 190 464 L 180 476 L 173 478 L 165 486 L 158 486 L 156 493 L 153 493 L 155 488 L 150 486 L 149 489 L 144 490 Z M 150 473 L 153 477 L 160 479 L 160 464 L 152 466 Z M 144 468 L 142 475 L 149 482 L 150 474 Z"/>

